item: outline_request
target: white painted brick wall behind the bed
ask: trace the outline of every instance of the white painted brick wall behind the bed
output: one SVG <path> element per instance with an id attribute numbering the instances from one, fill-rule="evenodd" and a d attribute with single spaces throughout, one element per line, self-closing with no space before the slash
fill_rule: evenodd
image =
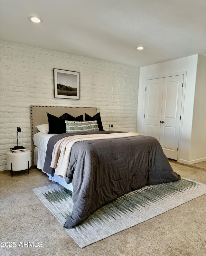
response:
<path id="1" fill-rule="evenodd" d="M 80 72 L 80 100 L 55 99 L 53 69 Z M 31 150 L 30 105 L 97 107 L 105 130 L 136 132 L 139 68 L 0 40 L 0 170 L 16 145 Z"/>

